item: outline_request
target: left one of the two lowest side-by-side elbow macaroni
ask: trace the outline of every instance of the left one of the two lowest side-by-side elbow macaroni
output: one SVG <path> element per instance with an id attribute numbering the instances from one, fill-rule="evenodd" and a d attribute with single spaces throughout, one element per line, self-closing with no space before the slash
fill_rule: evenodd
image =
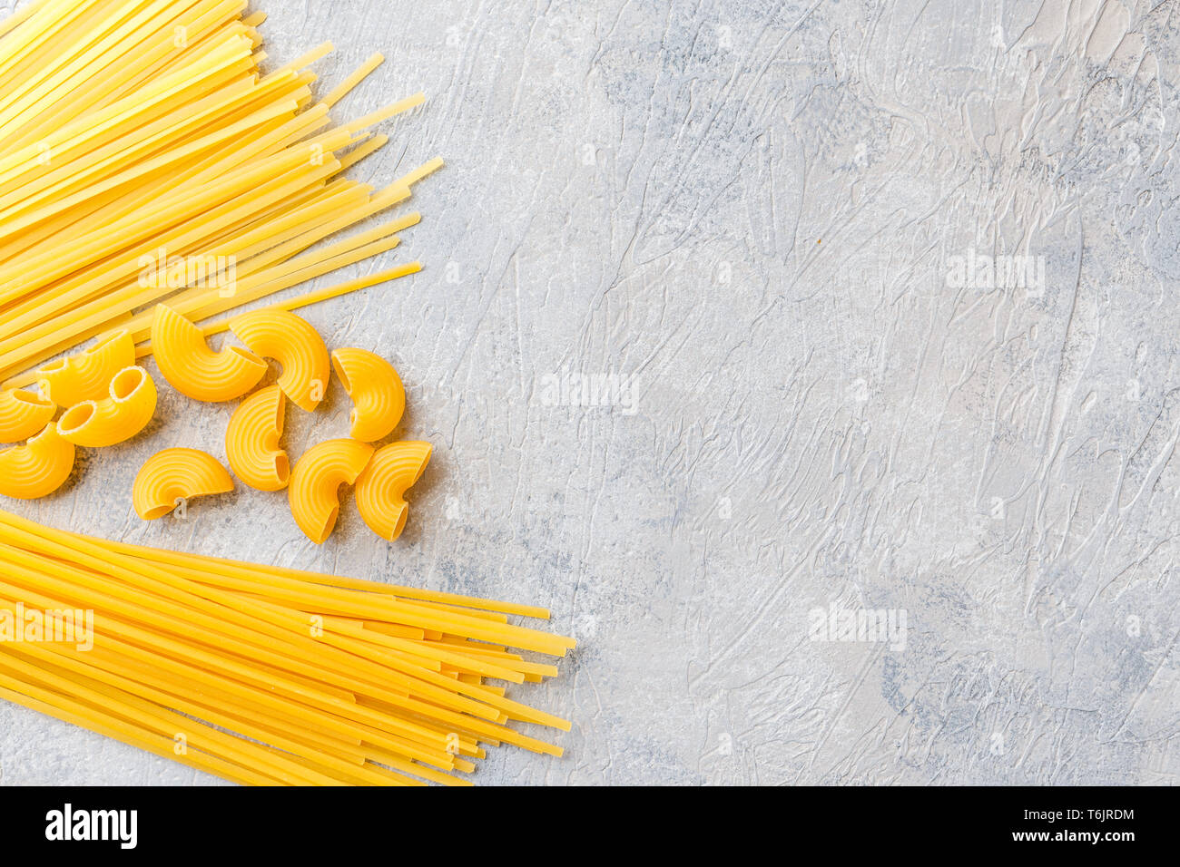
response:
<path id="1" fill-rule="evenodd" d="M 332 536 L 340 515 L 340 486 L 365 469 L 373 446 L 356 440 L 326 440 L 303 453 L 291 471 L 287 498 L 299 528 L 316 545 Z"/>

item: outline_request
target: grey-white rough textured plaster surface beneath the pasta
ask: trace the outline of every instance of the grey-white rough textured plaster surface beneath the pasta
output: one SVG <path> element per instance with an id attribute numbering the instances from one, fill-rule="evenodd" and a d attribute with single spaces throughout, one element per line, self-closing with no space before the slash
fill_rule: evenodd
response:
<path id="1" fill-rule="evenodd" d="M 566 756 L 480 782 L 1175 780 L 1175 2 L 261 8 L 273 58 L 335 41 L 328 84 L 386 53 L 337 117 L 431 98 L 353 172 L 447 159 L 362 265 L 427 269 L 308 313 L 435 444 L 409 528 L 349 506 L 316 549 L 248 490 L 143 524 L 143 459 L 222 454 L 230 413 L 166 390 L 24 514 L 550 605 L 582 645 L 517 695 Z M 972 250 L 1044 283 L 949 285 Z M 583 375 L 624 387 L 552 387 Z M 346 419 L 334 390 L 288 448 Z M 904 649 L 813 641 L 832 606 L 904 612 Z M 211 782 L 7 705 L 0 763 Z"/>

